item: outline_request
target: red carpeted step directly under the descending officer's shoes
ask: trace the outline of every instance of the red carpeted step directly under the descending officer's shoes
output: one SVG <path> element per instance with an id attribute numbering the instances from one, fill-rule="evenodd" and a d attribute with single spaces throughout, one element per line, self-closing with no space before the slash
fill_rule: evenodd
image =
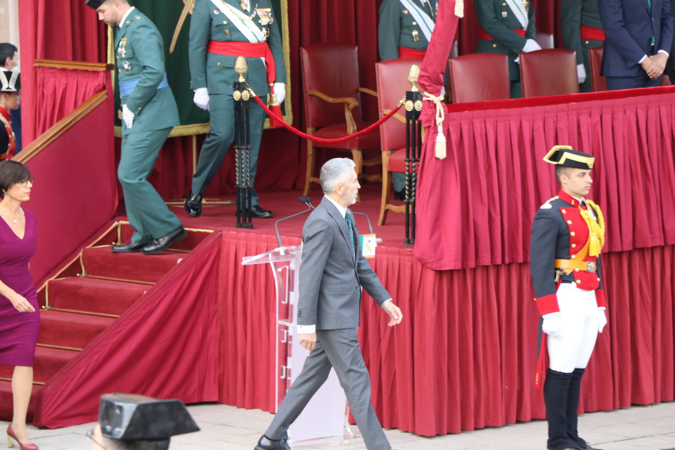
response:
<path id="1" fill-rule="evenodd" d="M 157 283 L 186 256 L 177 252 L 144 255 L 141 252 L 113 253 L 110 247 L 85 248 L 82 264 L 88 276 Z"/>

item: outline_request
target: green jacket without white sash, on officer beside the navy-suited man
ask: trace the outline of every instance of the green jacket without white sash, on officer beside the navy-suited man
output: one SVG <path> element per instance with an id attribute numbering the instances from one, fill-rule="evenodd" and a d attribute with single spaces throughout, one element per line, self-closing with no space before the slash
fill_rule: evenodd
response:
<path id="1" fill-rule="evenodd" d="M 562 0 L 560 4 L 562 43 L 566 49 L 576 51 L 577 64 L 585 63 L 584 55 L 589 49 L 603 44 L 601 40 L 581 40 L 581 26 L 602 29 L 597 0 Z M 589 74 L 589 67 L 586 67 L 586 74 Z"/>

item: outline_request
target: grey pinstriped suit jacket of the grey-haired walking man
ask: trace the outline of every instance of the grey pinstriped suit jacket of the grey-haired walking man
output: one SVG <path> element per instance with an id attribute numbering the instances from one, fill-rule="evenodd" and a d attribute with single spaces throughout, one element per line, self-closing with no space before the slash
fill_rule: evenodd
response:
<path id="1" fill-rule="evenodd" d="M 347 214 L 354 224 L 356 258 L 347 222 L 327 198 L 302 227 L 298 325 L 317 325 L 320 330 L 358 327 L 361 286 L 379 305 L 391 298 L 362 256 L 354 215 L 349 209 Z"/>

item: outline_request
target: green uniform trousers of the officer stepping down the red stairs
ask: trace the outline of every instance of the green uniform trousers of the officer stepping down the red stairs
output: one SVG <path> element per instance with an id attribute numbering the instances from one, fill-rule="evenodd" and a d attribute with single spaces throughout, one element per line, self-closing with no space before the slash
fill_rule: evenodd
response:
<path id="1" fill-rule="evenodd" d="M 170 132 L 171 128 L 163 128 L 122 136 L 117 178 L 124 191 L 129 223 L 135 230 L 132 242 L 150 242 L 182 226 L 147 180 Z"/>

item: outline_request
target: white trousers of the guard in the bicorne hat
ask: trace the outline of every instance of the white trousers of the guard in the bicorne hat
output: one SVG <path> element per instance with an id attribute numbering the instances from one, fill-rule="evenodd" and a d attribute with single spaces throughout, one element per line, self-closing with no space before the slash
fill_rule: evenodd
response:
<path id="1" fill-rule="evenodd" d="M 549 368 L 570 373 L 586 368 L 597 339 L 598 312 L 595 291 L 579 289 L 574 283 L 560 283 L 560 337 L 546 337 Z"/>

